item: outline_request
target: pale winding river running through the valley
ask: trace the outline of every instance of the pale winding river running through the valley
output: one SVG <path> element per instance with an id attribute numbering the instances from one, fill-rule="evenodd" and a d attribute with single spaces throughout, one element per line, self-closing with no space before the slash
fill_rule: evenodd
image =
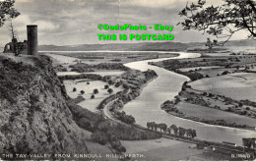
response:
<path id="1" fill-rule="evenodd" d="M 212 126 L 193 122 L 171 116 L 160 109 L 160 104 L 165 100 L 171 100 L 181 89 L 181 85 L 187 77 L 166 71 L 162 68 L 148 65 L 149 62 L 159 62 L 167 59 L 194 58 L 199 57 L 197 53 L 178 52 L 180 55 L 174 58 L 160 58 L 131 62 L 125 66 L 140 71 L 154 70 L 158 74 L 156 80 L 151 81 L 144 89 L 142 94 L 135 100 L 124 106 L 124 111 L 132 115 L 136 123 L 146 127 L 147 122 L 165 123 L 167 126 L 172 124 L 186 129 L 195 129 L 197 138 L 211 141 L 228 141 L 242 145 L 242 137 L 255 137 L 256 132 Z"/>

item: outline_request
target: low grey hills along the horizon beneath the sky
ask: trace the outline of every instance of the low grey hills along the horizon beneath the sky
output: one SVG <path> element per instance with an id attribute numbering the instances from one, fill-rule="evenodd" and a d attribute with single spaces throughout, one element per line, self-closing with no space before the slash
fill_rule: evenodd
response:
<path id="1" fill-rule="evenodd" d="M 252 39 L 228 41 L 225 46 L 255 46 L 256 41 Z M 191 47 L 204 47 L 203 42 L 143 42 L 143 43 L 109 43 L 109 44 L 80 44 L 80 45 L 40 45 L 39 51 L 180 51 Z"/>

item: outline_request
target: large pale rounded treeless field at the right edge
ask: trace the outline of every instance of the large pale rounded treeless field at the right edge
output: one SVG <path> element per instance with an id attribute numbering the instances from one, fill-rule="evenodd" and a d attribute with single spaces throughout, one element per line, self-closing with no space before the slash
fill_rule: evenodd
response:
<path id="1" fill-rule="evenodd" d="M 229 74 L 211 79 L 196 80 L 189 84 L 195 89 L 226 95 L 233 99 L 249 99 L 251 101 L 256 101 L 255 74 Z"/>

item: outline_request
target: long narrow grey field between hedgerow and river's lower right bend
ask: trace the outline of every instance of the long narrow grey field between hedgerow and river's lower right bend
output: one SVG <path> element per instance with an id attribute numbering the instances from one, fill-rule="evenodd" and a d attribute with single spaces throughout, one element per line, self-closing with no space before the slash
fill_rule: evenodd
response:
<path id="1" fill-rule="evenodd" d="M 224 120 L 226 123 L 235 122 L 238 125 L 245 124 L 250 127 L 256 127 L 255 119 L 240 116 L 229 112 L 224 112 L 218 109 L 194 105 L 185 102 L 180 102 L 176 106 L 179 111 L 188 114 L 189 116 L 195 116 L 206 120 Z"/>

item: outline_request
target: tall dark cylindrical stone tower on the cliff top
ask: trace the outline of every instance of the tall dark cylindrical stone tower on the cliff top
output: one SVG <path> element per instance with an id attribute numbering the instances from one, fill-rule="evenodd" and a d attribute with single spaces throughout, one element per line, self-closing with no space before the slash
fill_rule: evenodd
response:
<path id="1" fill-rule="evenodd" d="M 27 26 L 28 55 L 37 55 L 37 26 Z"/>

